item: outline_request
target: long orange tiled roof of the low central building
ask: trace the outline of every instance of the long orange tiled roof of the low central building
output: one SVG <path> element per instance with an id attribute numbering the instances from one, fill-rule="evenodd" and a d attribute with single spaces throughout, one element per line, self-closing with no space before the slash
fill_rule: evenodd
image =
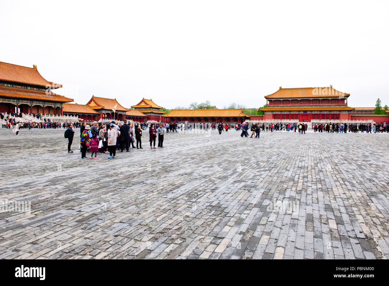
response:
<path id="1" fill-rule="evenodd" d="M 242 109 L 173 109 L 164 117 L 249 117 Z"/>

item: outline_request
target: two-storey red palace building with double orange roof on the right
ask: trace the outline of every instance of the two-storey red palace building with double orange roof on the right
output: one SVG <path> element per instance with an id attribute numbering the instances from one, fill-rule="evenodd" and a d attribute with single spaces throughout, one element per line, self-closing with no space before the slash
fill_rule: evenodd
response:
<path id="1" fill-rule="evenodd" d="M 282 88 L 266 95 L 264 120 L 314 121 L 350 120 L 354 108 L 347 106 L 348 93 L 332 86 L 324 88 Z"/>

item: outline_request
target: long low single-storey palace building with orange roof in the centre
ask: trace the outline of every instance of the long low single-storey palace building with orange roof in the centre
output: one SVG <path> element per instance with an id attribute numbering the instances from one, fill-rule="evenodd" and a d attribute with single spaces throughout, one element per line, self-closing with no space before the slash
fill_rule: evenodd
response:
<path id="1" fill-rule="evenodd" d="M 243 113 L 242 109 L 173 109 L 168 114 L 162 115 L 166 122 L 189 123 L 243 123 L 250 116 Z"/>

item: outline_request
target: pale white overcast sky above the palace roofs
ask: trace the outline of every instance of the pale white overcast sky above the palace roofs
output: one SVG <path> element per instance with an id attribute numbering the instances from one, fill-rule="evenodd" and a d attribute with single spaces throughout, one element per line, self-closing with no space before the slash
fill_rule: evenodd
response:
<path id="1" fill-rule="evenodd" d="M 0 61 L 32 67 L 86 104 L 246 107 L 333 85 L 389 105 L 389 1 L 1 1 Z"/>

